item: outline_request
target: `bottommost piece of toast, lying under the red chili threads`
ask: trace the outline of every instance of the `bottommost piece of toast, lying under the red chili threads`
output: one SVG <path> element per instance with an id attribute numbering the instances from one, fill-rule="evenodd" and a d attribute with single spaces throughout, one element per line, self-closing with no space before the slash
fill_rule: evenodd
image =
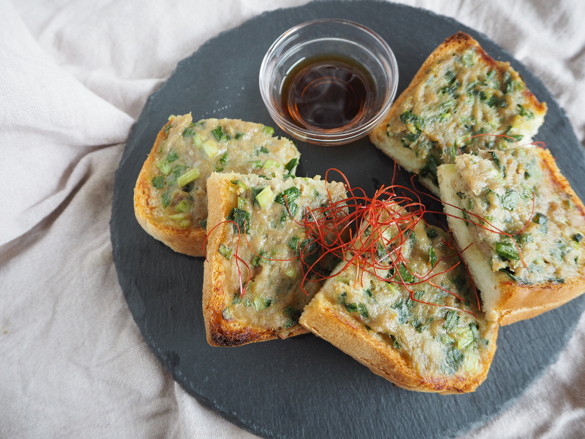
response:
<path id="1" fill-rule="evenodd" d="M 408 270 L 380 270 L 379 279 L 348 266 L 305 307 L 301 325 L 404 389 L 473 392 L 490 369 L 498 326 L 477 309 L 472 283 L 449 240 L 446 232 L 418 221 L 402 246 Z M 412 300 L 407 286 L 415 299 L 433 304 Z"/>

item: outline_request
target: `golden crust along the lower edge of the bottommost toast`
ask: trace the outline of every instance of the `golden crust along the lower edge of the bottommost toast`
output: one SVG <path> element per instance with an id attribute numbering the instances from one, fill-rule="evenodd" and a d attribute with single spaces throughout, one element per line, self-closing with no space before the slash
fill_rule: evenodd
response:
<path id="1" fill-rule="evenodd" d="M 456 376 L 429 380 L 418 376 L 398 351 L 389 349 L 386 343 L 374 339 L 363 325 L 336 311 L 321 292 L 305 306 L 299 323 L 398 387 L 442 395 L 469 393 L 477 389 L 477 386 L 486 379 L 490 369 L 498 334 L 498 328 L 495 328 L 490 339 L 488 362 L 481 375 L 473 380 Z"/>

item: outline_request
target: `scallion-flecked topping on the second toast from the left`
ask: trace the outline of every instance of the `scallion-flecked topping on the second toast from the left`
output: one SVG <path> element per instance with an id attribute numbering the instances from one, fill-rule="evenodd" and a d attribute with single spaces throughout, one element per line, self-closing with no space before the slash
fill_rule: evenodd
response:
<path id="1" fill-rule="evenodd" d="M 329 198 L 319 178 L 226 176 L 237 198 L 219 253 L 225 258 L 222 284 L 229 288 L 225 306 L 235 321 L 271 328 L 283 338 L 300 329 L 301 310 L 321 286 L 316 273 L 328 274 L 336 263 L 322 258 L 303 224 L 313 215 L 323 218 L 326 207 L 345 198 L 343 184 L 328 183 Z"/>

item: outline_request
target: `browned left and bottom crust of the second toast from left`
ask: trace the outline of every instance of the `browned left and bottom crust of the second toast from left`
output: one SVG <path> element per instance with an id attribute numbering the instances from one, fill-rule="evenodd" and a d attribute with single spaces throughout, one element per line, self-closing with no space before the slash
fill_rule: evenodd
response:
<path id="1" fill-rule="evenodd" d="M 219 254 L 219 244 L 229 242 L 232 235 L 232 224 L 226 223 L 215 227 L 225 221 L 230 210 L 237 204 L 238 194 L 229 190 L 230 180 L 235 180 L 238 174 L 212 173 L 207 179 L 208 204 L 207 227 L 211 230 L 207 243 L 207 258 L 204 262 L 203 272 L 203 317 L 205 320 L 205 334 L 207 342 L 212 346 L 240 346 L 256 341 L 266 341 L 273 338 L 281 338 L 273 329 L 261 329 L 259 327 L 243 325 L 237 320 L 225 320 L 222 310 L 225 307 L 225 298 L 232 297 L 233 286 L 230 289 L 226 285 L 223 266 L 225 258 Z M 215 229 L 214 229 L 215 227 Z M 229 236 L 228 236 L 229 235 Z M 242 237 L 241 245 L 246 245 Z M 232 259 L 233 261 L 233 259 Z M 295 328 L 287 337 L 305 334 L 308 332 L 303 327 Z"/>

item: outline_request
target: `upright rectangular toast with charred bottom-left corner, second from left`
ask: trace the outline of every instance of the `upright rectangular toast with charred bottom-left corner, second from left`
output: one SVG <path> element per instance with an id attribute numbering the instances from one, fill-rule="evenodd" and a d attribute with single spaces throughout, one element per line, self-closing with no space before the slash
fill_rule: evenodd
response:
<path id="1" fill-rule="evenodd" d="M 319 178 L 264 179 L 234 173 L 209 177 L 203 313 L 210 345 L 239 346 L 307 332 L 297 321 L 321 283 L 302 285 L 299 251 L 312 264 L 310 259 L 316 259 L 319 246 L 308 242 L 301 218 L 307 208 L 314 210 L 346 198 L 342 183 L 333 181 L 326 186 Z M 240 235 L 226 218 L 239 225 Z M 241 258 L 243 296 L 236 249 Z"/>

